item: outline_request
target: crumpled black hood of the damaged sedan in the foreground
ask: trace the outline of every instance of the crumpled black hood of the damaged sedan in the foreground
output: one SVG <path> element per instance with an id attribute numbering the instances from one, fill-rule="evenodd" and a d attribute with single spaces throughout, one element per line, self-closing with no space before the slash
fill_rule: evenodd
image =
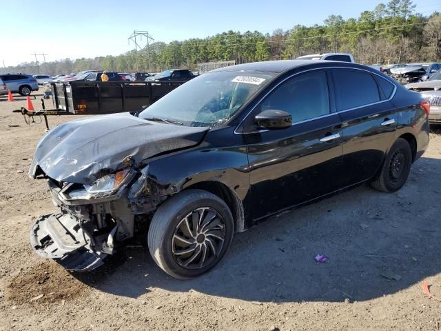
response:
<path id="1" fill-rule="evenodd" d="M 30 176 L 38 164 L 57 181 L 92 183 L 121 168 L 126 157 L 136 164 L 163 152 L 196 146 L 207 130 L 153 123 L 128 112 L 70 121 L 39 141 Z"/>

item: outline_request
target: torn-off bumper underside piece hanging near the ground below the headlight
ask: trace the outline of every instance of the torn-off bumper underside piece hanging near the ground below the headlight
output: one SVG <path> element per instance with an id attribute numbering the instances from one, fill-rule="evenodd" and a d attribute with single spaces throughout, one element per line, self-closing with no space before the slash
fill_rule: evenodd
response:
<path id="1" fill-rule="evenodd" d="M 67 270 L 90 271 L 103 264 L 107 254 L 91 250 L 91 242 L 88 231 L 70 214 L 39 217 L 30 231 L 35 252 L 54 259 Z"/>

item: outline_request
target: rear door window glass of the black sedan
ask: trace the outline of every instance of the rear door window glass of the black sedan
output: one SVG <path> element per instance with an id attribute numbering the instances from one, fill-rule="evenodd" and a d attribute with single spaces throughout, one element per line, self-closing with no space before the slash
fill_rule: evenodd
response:
<path id="1" fill-rule="evenodd" d="M 380 92 L 371 74 L 359 70 L 335 70 L 333 76 L 338 110 L 380 101 Z"/>

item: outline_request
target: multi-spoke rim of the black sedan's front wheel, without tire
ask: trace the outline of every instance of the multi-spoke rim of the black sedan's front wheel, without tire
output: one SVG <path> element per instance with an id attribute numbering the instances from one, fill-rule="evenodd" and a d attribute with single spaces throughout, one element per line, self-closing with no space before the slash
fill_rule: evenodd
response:
<path id="1" fill-rule="evenodd" d="M 216 210 L 202 207 L 189 212 L 173 233 L 172 253 L 185 269 L 201 269 L 213 263 L 225 242 L 225 221 Z"/>

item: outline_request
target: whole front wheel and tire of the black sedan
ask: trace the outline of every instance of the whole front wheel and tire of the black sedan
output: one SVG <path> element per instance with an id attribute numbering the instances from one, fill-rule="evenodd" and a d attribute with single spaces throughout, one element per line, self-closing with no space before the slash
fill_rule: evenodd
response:
<path id="1" fill-rule="evenodd" d="M 177 279 L 191 279 L 223 258 L 233 232 L 232 212 L 222 199 L 204 190 L 186 190 L 156 210 L 148 246 L 159 268 Z"/>

